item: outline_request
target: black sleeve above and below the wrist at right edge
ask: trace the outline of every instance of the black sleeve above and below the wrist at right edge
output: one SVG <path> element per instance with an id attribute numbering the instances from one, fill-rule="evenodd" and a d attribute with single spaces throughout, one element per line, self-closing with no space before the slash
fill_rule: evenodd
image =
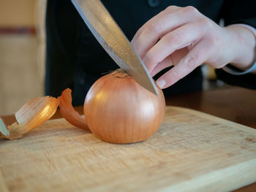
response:
<path id="1" fill-rule="evenodd" d="M 244 23 L 256 28 L 256 1 L 227 0 L 223 4 L 219 18 L 225 20 L 225 26 Z M 223 80 L 224 82 L 227 82 L 227 84 L 256 89 L 256 74 L 244 74 L 238 76 L 228 74 L 222 69 L 217 69 L 216 73 L 219 80 Z"/>

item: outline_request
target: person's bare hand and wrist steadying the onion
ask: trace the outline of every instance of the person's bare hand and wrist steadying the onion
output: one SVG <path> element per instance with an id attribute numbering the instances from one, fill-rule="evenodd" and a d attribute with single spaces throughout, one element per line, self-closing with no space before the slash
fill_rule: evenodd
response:
<path id="1" fill-rule="evenodd" d="M 231 63 L 246 69 L 255 59 L 251 31 L 220 27 L 195 7 L 167 7 L 138 30 L 132 45 L 152 77 L 173 66 L 157 80 L 159 88 L 173 85 L 202 64 L 221 68 Z"/>

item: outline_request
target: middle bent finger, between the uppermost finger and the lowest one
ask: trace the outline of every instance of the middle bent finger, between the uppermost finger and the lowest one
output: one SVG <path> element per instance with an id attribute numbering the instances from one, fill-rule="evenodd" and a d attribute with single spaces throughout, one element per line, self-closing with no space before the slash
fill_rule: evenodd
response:
<path id="1" fill-rule="evenodd" d="M 143 59 L 148 72 L 151 73 L 159 62 L 163 61 L 174 51 L 187 47 L 192 42 L 194 44 L 199 42 L 204 34 L 206 34 L 206 21 L 204 20 L 206 19 L 194 23 L 187 23 L 186 25 L 171 31 L 169 34 L 166 34 L 165 37 L 162 37 L 154 47 L 151 47 Z"/>

